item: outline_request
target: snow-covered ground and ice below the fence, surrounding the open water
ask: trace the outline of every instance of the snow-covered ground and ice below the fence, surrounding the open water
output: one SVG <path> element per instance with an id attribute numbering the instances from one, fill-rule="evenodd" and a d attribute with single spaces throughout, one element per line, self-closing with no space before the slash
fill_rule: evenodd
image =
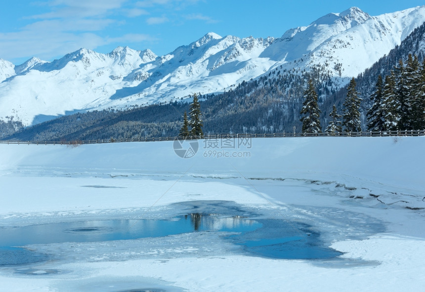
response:
<path id="1" fill-rule="evenodd" d="M 0 290 L 423 289 L 425 137 L 233 142 L 200 140 L 187 159 L 176 155 L 173 142 L 0 144 L 0 232 L 83 220 L 170 219 L 190 202 L 208 208 L 208 201 L 231 201 L 294 228 L 308 224 L 342 255 L 260 257 L 214 232 L 38 244 L 27 248 L 49 260 L 0 267 Z M 218 157 L 233 155 L 244 157 Z"/>

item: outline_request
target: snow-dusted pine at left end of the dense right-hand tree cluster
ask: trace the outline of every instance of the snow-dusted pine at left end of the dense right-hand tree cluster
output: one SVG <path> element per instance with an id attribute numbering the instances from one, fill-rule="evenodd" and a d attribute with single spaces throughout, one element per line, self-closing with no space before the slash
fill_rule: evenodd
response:
<path id="1" fill-rule="evenodd" d="M 382 131 L 385 122 L 385 112 L 383 108 L 383 80 L 382 76 L 378 76 L 378 81 L 375 85 L 375 92 L 371 95 L 371 100 L 374 102 L 368 110 L 368 131 Z"/>

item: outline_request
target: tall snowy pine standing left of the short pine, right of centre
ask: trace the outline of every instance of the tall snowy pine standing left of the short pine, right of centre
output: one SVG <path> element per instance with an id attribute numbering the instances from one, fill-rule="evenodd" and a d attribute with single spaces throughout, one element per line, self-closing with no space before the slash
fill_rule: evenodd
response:
<path id="1" fill-rule="evenodd" d="M 320 109 L 317 104 L 317 93 L 313 86 L 313 81 L 308 81 L 307 89 L 304 90 L 304 102 L 302 103 L 301 115 L 305 115 L 300 119 L 302 122 L 303 133 L 321 133 L 320 126 Z"/>

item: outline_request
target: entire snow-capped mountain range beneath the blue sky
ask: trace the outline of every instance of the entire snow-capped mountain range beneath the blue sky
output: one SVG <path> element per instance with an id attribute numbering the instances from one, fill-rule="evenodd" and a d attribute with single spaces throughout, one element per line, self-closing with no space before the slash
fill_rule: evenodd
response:
<path id="1" fill-rule="evenodd" d="M 240 39 L 209 33 L 164 56 L 118 47 L 109 54 L 80 49 L 52 62 L 19 66 L 0 59 L 0 119 L 25 125 L 76 110 L 124 108 L 220 92 L 279 66 L 322 66 L 338 86 L 370 67 L 425 21 L 425 6 L 370 16 L 352 7 L 281 38 Z"/>

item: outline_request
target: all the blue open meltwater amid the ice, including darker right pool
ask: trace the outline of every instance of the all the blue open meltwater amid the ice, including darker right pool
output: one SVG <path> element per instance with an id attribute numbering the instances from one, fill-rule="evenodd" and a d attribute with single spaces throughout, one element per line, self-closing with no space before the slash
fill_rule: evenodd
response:
<path id="1" fill-rule="evenodd" d="M 300 222 L 263 219 L 229 203 L 198 202 L 186 207 L 186 215 L 170 220 L 88 220 L 1 228 L 0 247 L 6 248 L 0 248 L 0 265 L 30 264 L 47 259 L 44 254 L 10 247 L 161 238 L 191 232 L 215 232 L 247 255 L 328 259 L 341 254 L 324 246 L 320 234 Z"/>

